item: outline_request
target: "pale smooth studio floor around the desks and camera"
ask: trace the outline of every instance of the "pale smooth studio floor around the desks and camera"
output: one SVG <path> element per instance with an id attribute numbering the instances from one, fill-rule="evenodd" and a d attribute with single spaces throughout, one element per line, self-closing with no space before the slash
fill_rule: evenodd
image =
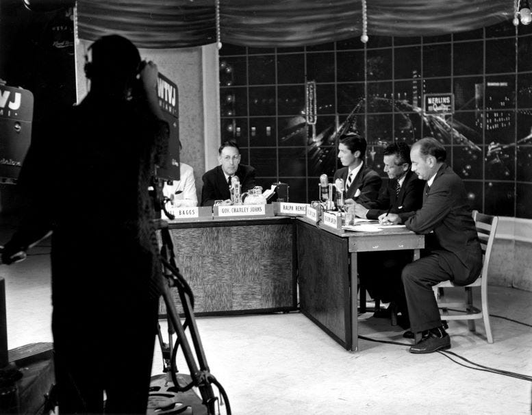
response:
<path id="1" fill-rule="evenodd" d="M 52 341 L 49 255 L 46 247 L 32 253 L 0 268 L 9 349 Z M 532 292 L 490 286 L 489 300 L 490 314 L 532 325 Z M 532 375 L 532 327 L 495 316 L 491 321 L 493 344 L 485 341 L 481 320 L 477 334 L 466 323 L 450 322 L 451 351 Z M 211 373 L 235 415 L 531 413 L 530 381 L 466 368 L 441 353 L 412 355 L 403 331 L 371 313 L 359 316 L 359 334 L 405 345 L 360 340 L 360 350 L 351 353 L 298 312 L 201 317 L 197 325 Z M 166 338 L 164 320 L 161 327 Z M 153 375 L 159 375 L 162 358 L 155 349 Z M 189 373 L 182 358 L 178 364 Z"/>

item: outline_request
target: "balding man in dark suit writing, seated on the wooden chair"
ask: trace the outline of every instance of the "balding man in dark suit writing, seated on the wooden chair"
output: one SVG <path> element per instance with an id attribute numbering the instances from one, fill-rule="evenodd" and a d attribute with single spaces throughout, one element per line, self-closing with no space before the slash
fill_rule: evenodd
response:
<path id="1" fill-rule="evenodd" d="M 405 266 L 402 277 L 411 331 L 422 333 L 422 340 L 409 351 L 432 353 L 451 347 L 432 287 L 447 280 L 459 286 L 472 283 L 482 268 L 482 251 L 464 182 L 445 163 L 442 144 L 422 138 L 412 146 L 410 158 L 412 171 L 427 180 L 423 205 L 416 212 L 382 214 L 379 220 L 405 223 L 411 231 L 427 235 L 422 258 Z"/>

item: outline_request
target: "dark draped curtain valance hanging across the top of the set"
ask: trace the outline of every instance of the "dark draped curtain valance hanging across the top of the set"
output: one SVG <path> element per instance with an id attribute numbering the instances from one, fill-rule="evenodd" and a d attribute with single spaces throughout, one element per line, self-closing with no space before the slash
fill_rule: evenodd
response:
<path id="1" fill-rule="evenodd" d="M 126 36 L 138 47 L 216 42 L 214 0 L 78 0 L 79 38 Z M 514 16 L 511 0 L 367 0 L 369 36 L 433 36 Z M 316 45 L 359 36 L 361 0 L 220 0 L 222 42 L 249 47 Z"/>

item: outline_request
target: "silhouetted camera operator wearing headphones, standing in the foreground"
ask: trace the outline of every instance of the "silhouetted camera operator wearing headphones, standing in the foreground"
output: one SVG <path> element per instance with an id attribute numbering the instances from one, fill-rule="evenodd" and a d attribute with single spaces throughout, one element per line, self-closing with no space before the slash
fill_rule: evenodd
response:
<path id="1" fill-rule="evenodd" d="M 4 263 L 52 234 L 52 332 L 61 414 L 145 414 L 162 287 L 149 197 L 168 123 L 157 66 L 121 36 L 89 49 L 90 92 L 34 137 L 21 225 Z M 125 341 L 129 337 L 130 341 Z"/>

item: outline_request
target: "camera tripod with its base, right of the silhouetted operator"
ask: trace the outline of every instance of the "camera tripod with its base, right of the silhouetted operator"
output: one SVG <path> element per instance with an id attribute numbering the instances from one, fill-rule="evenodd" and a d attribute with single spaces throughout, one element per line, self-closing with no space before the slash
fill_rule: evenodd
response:
<path id="1" fill-rule="evenodd" d="M 188 286 L 183 275 L 179 272 L 179 268 L 175 265 L 173 241 L 168 229 L 168 223 L 159 219 L 156 221 L 156 229 L 160 231 L 162 240 L 161 260 L 164 268 L 164 277 L 168 281 L 168 285 L 163 284 L 162 298 L 166 305 L 169 342 L 168 344 L 164 343 L 159 326 L 157 339 L 162 350 L 164 372 L 166 372 L 166 375 L 160 375 L 159 377 L 155 377 L 155 379 L 152 377 L 147 413 L 160 415 L 199 414 L 199 412 L 193 412 L 194 406 L 197 407 L 197 405 L 194 405 L 194 401 L 197 401 L 197 396 L 187 392 L 192 387 L 196 387 L 201 394 L 201 404 L 207 410 L 207 412 L 201 412 L 201 414 L 220 414 L 219 405 L 221 404 L 225 405 L 225 414 L 231 415 L 231 407 L 229 405 L 229 399 L 227 399 L 227 394 L 216 378 L 210 373 L 209 366 L 207 365 L 207 359 L 194 318 L 194 297 L 190 286 Z M 181 319 L 175 309 L 173 297 L 170 294 L 170 287 L 177 288 L 179 292 L 179 299 L 181 299 L 185 317 L 183 324 L 181 324 Z M 187 328 L 190 330 L 190 338 L 192 339 L 195 357 L 185 334 Z M 174 346 L 172 345 L 173 333 L 177 335 Z M 176 356 L 179 345 L 181 345 L 183 356 L 190 370 L 190 376 L 177 373 Z M 170 385 L 170 382 L 173 385 Z M 222 397 L 221 402 L 218 402 L 218 397 L 214 395 L 212 383 L 214 383 L 220 392 Z"/>

